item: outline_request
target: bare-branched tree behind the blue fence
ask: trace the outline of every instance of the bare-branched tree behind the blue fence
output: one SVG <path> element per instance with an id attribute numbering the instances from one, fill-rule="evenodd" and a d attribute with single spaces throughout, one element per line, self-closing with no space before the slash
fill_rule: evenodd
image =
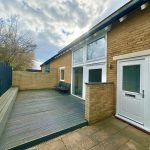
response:
<path id="1" fill-rule="evenodd" d="M 31 68 L 36 44 L 27 33 L 18 32 L 18 19 L 0 19 L 0 62 L 7 63 L 14 70 Z"/>

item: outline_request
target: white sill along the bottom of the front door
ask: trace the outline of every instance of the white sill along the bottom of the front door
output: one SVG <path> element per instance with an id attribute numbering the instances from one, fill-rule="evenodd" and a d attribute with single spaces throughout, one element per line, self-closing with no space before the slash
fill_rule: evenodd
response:
<path id="1" fill-rule="evenodd" d="M 137 127 L 137 128 L 139 128 L 139 129 L 141 129 L 141 130 L 143 130 L 143 131 L 145 131 L 145 132 L 147 132 L 147 133 L 150 134 L 150 129 L 144 127 L 144 124 L 141 125 L 141 124 L 139 124 L 139 123 L 137 123 L 137 122 L 135 122 L 135 121 L 132 121 L 132 120 L 130 120 L 130 119 L 128 119 L 128 118 L 125 118 L 125 117 L 123 117 L 123 116 L 121 116 L 121 115 L 119 115 L 119 114 L 116 114 L 115 117 L 118 118 L 118 119 L 121 119 L 121 120 L 123 120 L 123 121 L 129 123 L 130 125 L 135 126 L 135 127 Z"/>

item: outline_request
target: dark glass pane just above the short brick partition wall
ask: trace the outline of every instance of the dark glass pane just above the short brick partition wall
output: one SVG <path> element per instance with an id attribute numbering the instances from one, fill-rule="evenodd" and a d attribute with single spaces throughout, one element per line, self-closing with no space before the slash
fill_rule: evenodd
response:
<path id="1" fill-rule="evenodd" d="M 102 81 L 102 69 L 89 70 L 89 82 L 101 82 Z"/>

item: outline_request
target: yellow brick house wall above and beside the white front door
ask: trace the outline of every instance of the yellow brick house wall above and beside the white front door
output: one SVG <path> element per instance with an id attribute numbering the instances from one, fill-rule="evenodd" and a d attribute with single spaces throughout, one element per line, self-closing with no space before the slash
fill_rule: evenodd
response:
<path id="1" fill-rule="evenodd" d="M 114 24 L 107 39 L 107 81 L 116 83 L 117 65 L 113 57 L 150 49 L 150 7 L 128 15 L 122 23 Z"/>

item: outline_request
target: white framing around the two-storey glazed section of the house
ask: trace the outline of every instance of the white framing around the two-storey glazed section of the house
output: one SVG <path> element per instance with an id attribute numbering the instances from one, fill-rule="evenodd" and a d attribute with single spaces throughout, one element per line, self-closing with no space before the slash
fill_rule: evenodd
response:
<path id="1" fill-rule="evenodd" d="M 106 54 L 105 57 L 103 58 L 99 58 L 96 60 L 87 60 L 87 46 L 89 43 L 91 43 L 92 41 L 96 41 L 100 38 L 105 37 L 106 40 Z M 73 52 L 83 48 L 83 62 L 79 63 L 79 64 L 73 64 Z M 97 68 L 101 68 L 102 69 L 102 82 L 106 82 L 106 60 L 107 60 L 107 33 L 106 31 L 100 31 L 100 33 L 97 33 L 97 35 L 95 37 L 92 37 L 91 40 L 86 42 L 84 41 L 83 44 L 81 44 L 80 46 L 76 46 L 73 48 L 72 51 L 72 71 L 71 71 L 71 94 L 73 94 L 73 68 L 75 67 L 83 67 L 83 89 L 82 89 L 82 99 L 85 99 L 85 93 L 86 93 L 86 86 L 85 83 L 88 82 L 88 72 L 89 69 L 97 69 Z"/>

